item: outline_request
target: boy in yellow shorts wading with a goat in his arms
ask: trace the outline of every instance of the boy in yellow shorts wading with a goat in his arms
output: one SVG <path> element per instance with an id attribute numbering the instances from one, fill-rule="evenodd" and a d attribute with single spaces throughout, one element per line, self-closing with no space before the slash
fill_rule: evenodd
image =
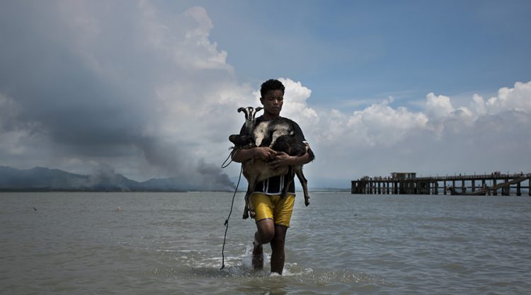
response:
<path id="1" fill-rule="evenodd" d="M 285 87 L 278 80 L 268 80 L 262 84 L 260 102 L 263 105 L 263 115 L 256 118 L 258 124 L 263 121 L 273 120 L 280 117 L 282 104 L 284 103 Z M 290 120 L 291 121 L 291 120 Z M 292 127 L 299 137 L 304 139 L 302 130 L 296 122 Z M 245 125 L 241 127 L 240 134 L 247 134 Z M 306 141 L 304 141 L 306 143 Z M 270 166 L 279 168 L 282 166 L 295 166 L 309 163 L 313 160 L 308 153 L 304 156 L 289 156 L 284 152 L 273 151 L 267 146 L 251 149 L 236 149 L 232 154 L 232 160 L 242 163 L 251 158 L 261 158 L 269 161 Z M 263 268 L 262 245 L 271 245 L 271 272 L 282 274 L 284 269 L 284 243 L 287 229 L 290 227 L 290 219 L 295 201 L 295 181 L 292 181 L 287 190 L 287 196 L 281 197 L 282 188 L 287 183 L 286 175 L 268 178 L 258 183 L 252 197 L 253 209 L 256 212 L 256 228 L 253 241 L 253 267 L 256 270 Z"/>

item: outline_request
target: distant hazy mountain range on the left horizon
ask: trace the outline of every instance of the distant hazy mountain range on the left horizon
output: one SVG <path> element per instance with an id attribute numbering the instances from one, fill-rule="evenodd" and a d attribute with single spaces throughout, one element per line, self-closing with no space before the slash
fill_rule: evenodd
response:
<path id="1" fill-rule="evenodd" d="M 59 169 L 35 167 L 26 170 L 0 166 L 0 191 L 190 191 L 201 187 L 176 178 L 152 178 L 144 182 L 121 174 L 80 175 Z"/>

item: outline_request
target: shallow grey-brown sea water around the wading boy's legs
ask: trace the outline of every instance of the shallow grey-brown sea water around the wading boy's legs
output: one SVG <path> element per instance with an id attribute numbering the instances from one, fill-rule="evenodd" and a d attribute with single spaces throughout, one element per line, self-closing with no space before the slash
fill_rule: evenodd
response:
<path id="1" fill-rule="evenodd" d="M 297 196 L 282 276 L 232 193 L 1 193 L 0 294 L 527 294 L 531 198 Z M 35 211 L 35 209 L 37 209 Z M 117 211 L 116 208 L 121 210 Z"/>

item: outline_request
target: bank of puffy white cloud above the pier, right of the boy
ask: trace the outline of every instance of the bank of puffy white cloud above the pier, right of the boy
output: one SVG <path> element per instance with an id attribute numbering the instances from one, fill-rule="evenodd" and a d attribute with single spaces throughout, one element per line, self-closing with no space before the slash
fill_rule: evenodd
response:
<path id="1" fill-rule="evenodd" d="M 501 88 L 487 103 L 475 94 L 468 107 L 455 108 L 452 98 L 428 93 L 423 112 L 391 108 L 387 100 L 350 115 L 319 112 L 322 126 L 313 134 L 321 151 L 319 172 L 308 169 L 343 179 L 392 170 L 425 175 L 528 170 L 530 86 L 531 81 Z"/>

